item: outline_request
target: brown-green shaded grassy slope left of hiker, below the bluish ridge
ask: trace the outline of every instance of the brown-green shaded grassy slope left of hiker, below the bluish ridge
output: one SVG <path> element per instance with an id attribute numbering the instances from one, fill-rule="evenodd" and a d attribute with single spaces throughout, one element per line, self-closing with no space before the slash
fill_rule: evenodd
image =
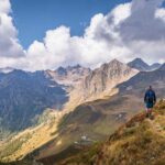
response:
<path id="1" fill-rule="evenodd" d="M 96 141 L 106 140 L 143 107 L 139 99 L 141 97 L 136 96 L 139 95 L 120 97 L 117 95 L 77 107 L 63 118 L 58 125 L 58 138 L 40 150 L 37 158 L 58 154 L 78 141 L 81 135 L 88 135 Z M 134 107 L 133 110 L 132 107 Z M 121 118 L 119 118 L 120 113 L 123 114 Z"/>

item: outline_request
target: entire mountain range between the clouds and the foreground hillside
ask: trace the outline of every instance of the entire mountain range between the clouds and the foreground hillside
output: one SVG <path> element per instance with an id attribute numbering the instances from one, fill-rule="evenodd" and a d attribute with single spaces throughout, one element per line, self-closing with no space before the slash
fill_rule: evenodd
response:
<path id="1" fill-rule="evenodd" d="M 155 87 L 160 98 L 165 92 L 165 65 L 147 65 L 140 58 L 129 64 L 113 59 L 94 70 L 80 65 L 35 73 L 3 70 L 0 146 L 8 154 L 0 157 L 6 161 L 34 151 L 36 160 L 61 155 L 81 136 L 106 140 L 143 109 L 148 85 Z M 47 138 L 41 133 L 43 130 Z M 42 141 L 36 144 L 37 138 Z M 15 150 L 9 152 L 13 144 Z"/>

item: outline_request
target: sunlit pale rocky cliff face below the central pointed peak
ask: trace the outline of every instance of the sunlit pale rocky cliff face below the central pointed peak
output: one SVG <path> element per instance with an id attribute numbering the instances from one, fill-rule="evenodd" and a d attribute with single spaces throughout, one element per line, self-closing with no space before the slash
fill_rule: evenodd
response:
<path id="1" fill-rule="evenodd" d="M 128 65 L 113 59 L 103 64 L 100 68 L 92 70 L 82 82 L 85 97 L 99 95 L 110 95 L 111 89 L 118 84 L 123 82 L 138 74 L 138 70 L 130 68 Z"/>

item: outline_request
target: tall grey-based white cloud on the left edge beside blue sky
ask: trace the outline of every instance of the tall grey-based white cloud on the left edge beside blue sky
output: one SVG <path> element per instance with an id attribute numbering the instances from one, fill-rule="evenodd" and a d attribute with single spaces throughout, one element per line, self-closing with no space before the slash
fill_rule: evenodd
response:
<path id="1" fill-rule="evenodd" d="M 10 16 L 11 4 L 9 0 L 0 0 L 0 56 L 19 57 L 24 54 L 18 41 L 18 31 Z"/>

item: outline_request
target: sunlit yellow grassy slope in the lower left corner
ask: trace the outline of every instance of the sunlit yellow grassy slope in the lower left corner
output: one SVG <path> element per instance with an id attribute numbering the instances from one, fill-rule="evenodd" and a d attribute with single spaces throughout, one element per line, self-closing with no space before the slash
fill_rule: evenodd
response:
<path id="1" fill-rule="evenodd" d="M 50 120 L 36 128 L 30 128 L 11 138 L 0 147 L 0 161 L 13 162 L 41 147 L 56 136 L 58 120 L 50 113 Z"/>

